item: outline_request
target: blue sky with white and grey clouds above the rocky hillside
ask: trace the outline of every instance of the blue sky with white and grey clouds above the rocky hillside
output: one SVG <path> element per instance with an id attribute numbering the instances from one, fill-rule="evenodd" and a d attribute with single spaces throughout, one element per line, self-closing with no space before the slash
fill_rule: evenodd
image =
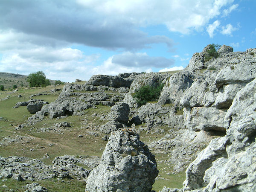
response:
<path id="1" fill-rule="evenodd" d="M 92 75 L 185 68 L 208 44 L 256 47 L 256 0 L 0 0 L 0 71 Z"/>

